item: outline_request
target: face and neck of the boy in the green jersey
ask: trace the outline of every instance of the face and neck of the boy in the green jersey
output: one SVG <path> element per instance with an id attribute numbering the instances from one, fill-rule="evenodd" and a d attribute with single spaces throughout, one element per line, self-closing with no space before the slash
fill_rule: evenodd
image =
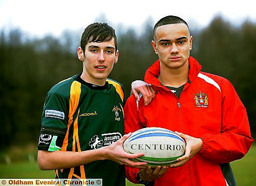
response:
<path id="1" fill-rule="evenodd" d="M 83 79 L 89 83 L 104 85 L 117 63 L 118 50 L 115 53 L 114 38 L 104 42 L 88 42 L 85 51 L 79 47 L 78 59 L 83 61 Z"/>

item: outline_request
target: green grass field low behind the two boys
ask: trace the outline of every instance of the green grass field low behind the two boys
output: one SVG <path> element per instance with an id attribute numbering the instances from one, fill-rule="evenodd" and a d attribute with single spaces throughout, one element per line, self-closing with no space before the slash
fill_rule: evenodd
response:
<path id="1" fill-rule="evenodd" d="M 255 185 L 256 176 L 254 176 L 254 171 L 256 169 L 256 146 L 252 146 L 245 158 L 232 162 L 231 166 L 238 186 Z M 53 170 L 39 170 L 36 162 L 20 162 L 10 165 L 0 164 L 0 178 L 54 178 L 54 176 L 55 173 Z M 126 185 L 134 186 L 136 184 L 132 184 L 127 180 Z"/>

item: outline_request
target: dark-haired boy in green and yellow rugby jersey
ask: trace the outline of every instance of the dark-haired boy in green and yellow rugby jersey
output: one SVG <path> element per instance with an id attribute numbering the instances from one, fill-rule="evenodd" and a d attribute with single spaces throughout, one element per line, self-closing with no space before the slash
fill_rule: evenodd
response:
<path id="1" fill-rule="evenodd" d="M 85 28 L 77 51 L 83 72 L 52 87 L 46 96 L 38 144 L 38 166 L 56 170 L 59 179 L 102 179 L 125 185 L 125 167 L 146 163 L 143 154 L 123 150 L 124 89 L 107 79 L 118 50 L 114 29 L 106 23 Z M 140 89 L 145 92 L 145 86 Z"/>

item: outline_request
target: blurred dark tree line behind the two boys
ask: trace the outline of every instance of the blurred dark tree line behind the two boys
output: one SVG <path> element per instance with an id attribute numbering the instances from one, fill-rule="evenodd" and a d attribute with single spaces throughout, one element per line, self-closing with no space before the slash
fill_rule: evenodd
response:
<path id="1" fill-rule="evenodd" d="M 203 71 L 230 80 L 247 108 L 251 132 L 256 134 L 256 24 L 233 25 L 215 17 L 205 28 L 190 28 L 191 55 Z M 157 60 L 151 46 L 153 23 L 148 20 L 138 34 L 134 28 L 116 29 L 119 59 L 110 78 L 122 83 L 126 98 L 131 82 L 144 78 Z M 82 33 L 80 33 L 82 34 Z M 77 59 L 79 37 L 65 31 L 61 38 L 47 35 L 26 38 L 19 28 L 0 30 L 0 146 L 25 145 L 38 140 L 45 96 L 52 85 L 82 71 Z M 73 47 L 74 46 L 74 47 Z"/>

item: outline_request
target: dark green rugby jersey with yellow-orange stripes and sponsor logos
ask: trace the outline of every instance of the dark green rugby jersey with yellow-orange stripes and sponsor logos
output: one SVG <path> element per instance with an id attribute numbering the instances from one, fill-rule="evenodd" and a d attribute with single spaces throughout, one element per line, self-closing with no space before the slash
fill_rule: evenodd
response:
<path id="1" fill-rule="evenodd" d="M 104 86 L 75 75 L 46 96 L 38 150 L 85 151 L 109 146 L 124 134 L 124 89 L 107 79 Z M 110 160 L 56 170 L 56 178 L 102 179 L 125 185 L 125 167 Z"/>

